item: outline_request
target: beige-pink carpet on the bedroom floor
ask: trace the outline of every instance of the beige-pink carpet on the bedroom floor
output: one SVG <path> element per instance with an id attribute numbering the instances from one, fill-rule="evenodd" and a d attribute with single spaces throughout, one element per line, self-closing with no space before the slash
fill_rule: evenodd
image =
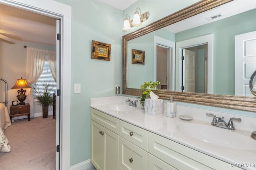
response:
<path id="1" fill-rule="evenodd" d="M 10 152 L 0 152 L 0 170 L 55 170 L 56 121 L 48 118 L 15 120 L 4 134 Z"/>

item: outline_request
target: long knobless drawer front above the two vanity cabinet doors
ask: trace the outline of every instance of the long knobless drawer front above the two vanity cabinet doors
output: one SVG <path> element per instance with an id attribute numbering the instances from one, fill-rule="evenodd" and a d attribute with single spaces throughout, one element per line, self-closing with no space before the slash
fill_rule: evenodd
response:
<path id="1" fill-rule="evenodd" d="M 90 109 L 91 119 L 99 123 L 100 125 L 106 127 L 110 131 L 119 134 L 119 119 L 110 116 L 106 113 L 102 113 L 96 109 Z"/>

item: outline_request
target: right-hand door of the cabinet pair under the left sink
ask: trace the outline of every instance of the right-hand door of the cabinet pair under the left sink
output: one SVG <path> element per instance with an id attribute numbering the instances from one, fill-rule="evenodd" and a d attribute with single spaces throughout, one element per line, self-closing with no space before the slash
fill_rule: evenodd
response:
<path id="1" fill-rule="evenodd" d="M 118 170 L 118 135 L 116 133 L 102 127 L 104 138 L 104 170 Z"/>

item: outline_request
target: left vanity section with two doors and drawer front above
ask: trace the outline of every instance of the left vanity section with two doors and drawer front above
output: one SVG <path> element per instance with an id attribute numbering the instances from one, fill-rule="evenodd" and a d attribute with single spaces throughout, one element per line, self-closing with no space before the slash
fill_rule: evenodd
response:
<path id="1" fill-rule="evenodd" d="M 97 170 L 118 170 L 118 119 L 92 108 L 90 113 L 90 160 Z"/>

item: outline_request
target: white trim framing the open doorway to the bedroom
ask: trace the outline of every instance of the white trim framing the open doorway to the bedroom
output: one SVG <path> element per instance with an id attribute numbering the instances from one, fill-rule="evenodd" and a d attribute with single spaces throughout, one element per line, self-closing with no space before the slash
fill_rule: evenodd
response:
<path id="1" fill-rule="evenodd" d="M 56 165 L 56 169 L 70 169 L 71 7 L 54 0 L 0 0 L 0 3 L 61 20 L 60 166 Z"/>

